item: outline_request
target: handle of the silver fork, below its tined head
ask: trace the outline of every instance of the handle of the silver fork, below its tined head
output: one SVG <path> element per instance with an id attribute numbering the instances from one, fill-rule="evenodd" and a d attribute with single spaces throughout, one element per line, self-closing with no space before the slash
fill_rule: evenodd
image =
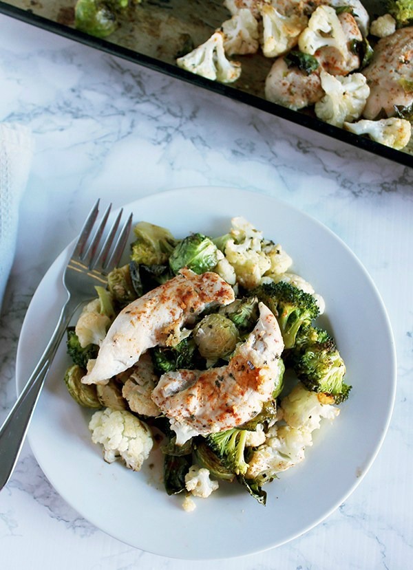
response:
<path id="1" fill-rule="evenodd" d="M 71 298 L 67 299 L 47 348 L 0 428 L 0 490 L 17 463 L 45 377 L 77 306 Z"/>

